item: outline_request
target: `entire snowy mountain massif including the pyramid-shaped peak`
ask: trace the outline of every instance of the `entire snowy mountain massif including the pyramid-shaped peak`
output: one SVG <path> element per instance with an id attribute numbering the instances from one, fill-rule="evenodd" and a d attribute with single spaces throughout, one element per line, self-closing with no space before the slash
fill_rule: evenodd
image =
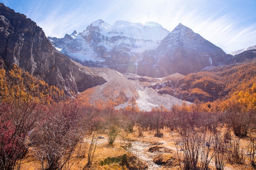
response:
<path id="1" fill-rule="evenodd" d="M 110 25 L 97 20 L 82 33 L 48 39 L 83 65 L 150 77 L 199 72 L 233 57 L 182 24 L 170 32 L 153 22 Z"/>

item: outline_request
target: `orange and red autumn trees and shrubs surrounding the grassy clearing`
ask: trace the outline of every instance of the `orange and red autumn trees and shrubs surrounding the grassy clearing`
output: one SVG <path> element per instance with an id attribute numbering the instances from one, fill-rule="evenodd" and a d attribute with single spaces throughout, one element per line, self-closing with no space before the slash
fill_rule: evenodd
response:
<path id="1" fill-rule="evenodd" d="M 115 146 L 122 131 L 138 131 L 137 137 L 149 131 L 153 137 L 163 137 L 164 129 L 177 133 L 185 148 L 184 155 L 177 152 L 184 158 L 177 160 L 180 168 L 207 169 L 213 158 L 217 169 L 227 161 L 243 164 L 239 140 L 255 136 L 255 70 L 251 63 L 189 74 L 177 81 L 175 95 L 193 103 L 184 100 L 170 110 L 160 105 L 140 111 L 135 97 L 128 100 L 120 94 L 94 103 L 79 95 L 68 99 L 63 90 L 17 65 L 7 71 L 0 69 L 0 169 L 19 169 L 28 155 L 36 158 L 43 170 L 70 169 L 76 158 L 83 159 L 86 154 L 87 162 L 81 169 L 89 169 L 101 133 L 108 137 L 109 146 Z M 125 102 L 124 109 L 114 109 Z M 91 143 L 82 148 L 85 139 Z M 226 159 L 228 154 L 238 156 Z"/>

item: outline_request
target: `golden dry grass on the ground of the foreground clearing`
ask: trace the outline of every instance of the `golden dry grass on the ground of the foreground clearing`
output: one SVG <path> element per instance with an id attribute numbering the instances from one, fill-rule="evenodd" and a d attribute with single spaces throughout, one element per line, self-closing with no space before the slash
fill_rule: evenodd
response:
<path id="1" fill-rule="evenodd" d="M 177 160 L 177 150 L 174 140 L 177 142 L 179 137 L 177 133 L 170 133 L 168 129 L 163 129 L 164 136 L 161 138 L 154 137 L 154 131 L 144 131 L 144 137 L 138 137 L 138 129 L 134 129 L 132 133 L 122 131 L 118 135 L 113 145 L 108 144 L 108 139 L 99 139 L 95 157 L 92 164 L 93 170 L 126 170 L 126 169 L 145 169 L 148 161 L 139 159 L 141 154 L 146 154 L 147 158 L 151 159 L 158 166 L 158 170 L 179 169 Z M 103 134 L 106 137 L 106 134 Z M 142 146 L 144 152 L 132 152 L 131 145 L 134 142 L 146 144 Z M 240 139 L 241 150 L 247 152 L 246 148 L 249 144 L 249 137 Z M 180 146 L 178 146 L 180 147 Z M 180 148 L 178 148 L 180 149 Z M 181 151 L 179 151 L 181 152 Z M 77 152 L 76 152 L 77 153 Z M 133 154 L 132 154 L 133 153 Z M 214 161 L 214 160 L 213 160 Z M 70 170 L 80 170 L 85 167 L 87 156 L 78 157 L 70 161 Z M 215 169 L 214 163 L 210 164 L 211 169 Z M 40 162 L 31 155 L 27 155 L 22 160 L 21 170 L 40 170 Z M 253 170 L 249 164 L 247 157 L 243 165 L 227 164 L 225 170 L 247 169 Z"/>

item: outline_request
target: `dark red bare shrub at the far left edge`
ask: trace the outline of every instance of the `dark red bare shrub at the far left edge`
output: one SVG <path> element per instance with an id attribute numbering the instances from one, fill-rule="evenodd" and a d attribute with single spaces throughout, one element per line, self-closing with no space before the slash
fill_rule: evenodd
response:
<path id="1" fill-rule="evenodd" d="M 0 98 L 0 169 L 20 169 L 30 144 L 27 137 L 42 110 L 42 105 L 28 98 L 14 98 L 9 103 Z"/>

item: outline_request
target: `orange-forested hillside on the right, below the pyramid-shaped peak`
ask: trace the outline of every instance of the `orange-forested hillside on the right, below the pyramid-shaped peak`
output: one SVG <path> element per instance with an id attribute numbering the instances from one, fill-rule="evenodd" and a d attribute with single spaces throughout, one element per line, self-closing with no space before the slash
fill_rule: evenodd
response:
<path id="1" fill-rule="evenodd" d="M 193 102 L 229 98 L 234 92 L 248 89 L 256 82 L 256 58 L 188 74 L 177 81 L 174 95 Z"/>

